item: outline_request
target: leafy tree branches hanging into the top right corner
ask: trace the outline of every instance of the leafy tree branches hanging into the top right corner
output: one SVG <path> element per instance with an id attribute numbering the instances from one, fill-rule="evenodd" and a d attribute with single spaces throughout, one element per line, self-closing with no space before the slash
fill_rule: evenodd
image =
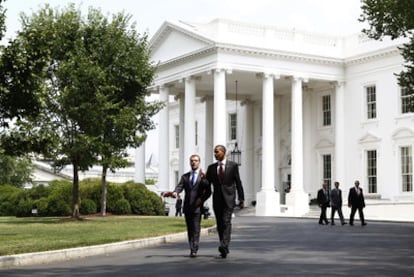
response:
<path id="1" fill-rule="evenodd" d="M 360 21 L 369 24 L 363 32 L 369 38 L 380 40 L 409 39 L 400 47 L 405 60 L 405 71 L 398 74 L 398 83 L 406 96 L 410 96 L 410 109 L 414 112 L 414 1 L 412 0 L 363 0 Z"/>

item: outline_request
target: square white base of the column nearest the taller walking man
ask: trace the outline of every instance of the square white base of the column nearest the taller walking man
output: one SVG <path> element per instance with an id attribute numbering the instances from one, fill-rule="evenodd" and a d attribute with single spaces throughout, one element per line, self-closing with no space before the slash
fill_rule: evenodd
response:
<path id="1" fill-rule="evenodd" d="M 280 195 L 276 191 L 259 191 L 256 194 L 256 216 L 280 215 Z"/>

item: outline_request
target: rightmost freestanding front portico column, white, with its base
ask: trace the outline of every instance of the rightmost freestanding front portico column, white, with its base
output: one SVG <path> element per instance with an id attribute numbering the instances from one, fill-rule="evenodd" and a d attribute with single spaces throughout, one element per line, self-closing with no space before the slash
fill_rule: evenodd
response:
<path id="1" fill-rule="evenodd" d="M 302 79 L 292 79 L 292 181 L 286 195 L 288 213 L 302 216 L 309 211 L 309 196 L 303 189 L 303 102 Z"/>

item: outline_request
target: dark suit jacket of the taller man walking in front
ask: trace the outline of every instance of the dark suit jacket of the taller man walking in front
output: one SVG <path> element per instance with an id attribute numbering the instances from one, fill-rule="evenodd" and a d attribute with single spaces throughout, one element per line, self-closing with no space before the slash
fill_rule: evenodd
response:
<path id="1" fill-rule="evenodd" d="M 239 175 L 239 166 L 233 161 L 226 161 L 224 178 L 220 180 L 217 173 L 218 162 L 207 168 L 207 179 L 213 184 L 213 205 L 215 208 L 223 205 L 234 208 L 236 204 L 236 191 L 239 201 L 244 201 L 244 191 Z"/>

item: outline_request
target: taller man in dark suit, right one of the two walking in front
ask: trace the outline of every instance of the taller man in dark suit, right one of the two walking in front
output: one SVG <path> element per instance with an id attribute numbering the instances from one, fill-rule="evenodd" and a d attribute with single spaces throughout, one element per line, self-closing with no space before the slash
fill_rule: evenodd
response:
<path id="1" fill-rule="evenodd" d="M 239 166 L 226 160 L 226 147 L 214 148 L 217 160 L 207 168 L 207 179 L 213 185 L 213 210 L 216 216 L 217 232 L 220 239 L 219 252 L 222 258 L 229 253 L 231 217 L 236 205 L 236 191 L 239 207 L 244 208 L 244 192 L 239 175 Z"/>

